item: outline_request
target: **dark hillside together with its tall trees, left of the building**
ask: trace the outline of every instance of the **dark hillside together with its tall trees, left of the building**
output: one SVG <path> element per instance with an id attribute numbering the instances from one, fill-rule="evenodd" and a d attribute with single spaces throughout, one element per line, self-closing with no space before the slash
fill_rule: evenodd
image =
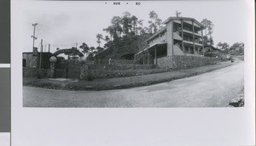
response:
<path id="1" fill-rule="evenodd" d="M 105 50 L 96 53 L 96 59 L 133 59 L 134 53 L 147 48 L 146 39 L 163 27 L 162 20 L 154 11 L 150 11 L 148 16 L 148 27 L 143 26 L 143 20 L 129 12 L 113 16 L 110 25 L 103 29 L 108 33 L 102 36 L 106 42 L 103 46 Z M 99 37 L 97 42 L 100 42 Z"/>

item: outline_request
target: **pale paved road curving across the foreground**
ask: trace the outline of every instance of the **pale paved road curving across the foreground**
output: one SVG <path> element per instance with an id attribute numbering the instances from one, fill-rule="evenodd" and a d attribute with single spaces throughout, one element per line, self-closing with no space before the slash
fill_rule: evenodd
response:
<path id="1" fill-rule="evenodd" d="M 243 87 L 243 62 L 199 76 L 109 91 L 23 87 L 25 107 L 225 107 Z"/>

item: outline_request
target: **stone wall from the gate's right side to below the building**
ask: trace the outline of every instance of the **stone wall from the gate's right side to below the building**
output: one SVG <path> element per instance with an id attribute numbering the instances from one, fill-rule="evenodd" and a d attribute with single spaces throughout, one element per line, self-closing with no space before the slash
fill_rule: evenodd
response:
<path id="1" fill-rule="evenodd" d="M 80 79 L 90 78 L 112 78 L 125 76 L 141 76 L 169 70 L 183 70 L 203 65 L 215 64 L 218 58 L 202 56 L 169 56 L 157 59 L 158 68 L 154 65 L 83 65 L 81 67 Z"/>

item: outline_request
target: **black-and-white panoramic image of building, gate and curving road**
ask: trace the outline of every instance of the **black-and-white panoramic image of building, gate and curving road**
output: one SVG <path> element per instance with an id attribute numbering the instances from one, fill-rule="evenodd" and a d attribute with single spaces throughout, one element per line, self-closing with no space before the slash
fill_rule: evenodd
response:
<path id="1" fill-rule="evenodd" d="M 247 17 L 219 3 L 23 11 L 23 106 L 243 107 Z"/>

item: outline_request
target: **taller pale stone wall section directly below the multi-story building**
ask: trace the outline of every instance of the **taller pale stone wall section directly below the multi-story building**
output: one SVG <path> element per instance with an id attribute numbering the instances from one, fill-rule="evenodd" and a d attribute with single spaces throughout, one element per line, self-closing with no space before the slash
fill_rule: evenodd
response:
<path id="1" fill-rule="evenodd" d="M 161 69 L 183 70 L 203 65 L 216 64 L 220 60 L 220 58 L 203 56 L 176 55 L 157 59 L 157 65 Z"/>

